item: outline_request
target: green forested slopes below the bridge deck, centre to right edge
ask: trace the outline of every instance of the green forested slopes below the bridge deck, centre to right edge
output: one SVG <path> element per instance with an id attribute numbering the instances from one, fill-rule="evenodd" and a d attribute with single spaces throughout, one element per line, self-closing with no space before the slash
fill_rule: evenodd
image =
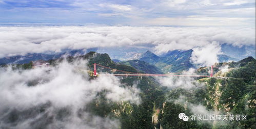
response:
<path id="1" fill-rule="evenodd" d="M 225 63 L 218 64 L 220 66 L 215 67 L 214 71 L 218 72 L 223 64 Z M 198 82 L 205 83 L 206 86 L 190 90 L 175 88 L 169 91 L 161 87 L 153 78 L 148 77 L 123 79 L 122 83 L 130 86 L 136 81 L 139 82 L 137 87 L 142 91 L 140 95 L 142 102 L 140 105 L 129 104 L 129 102 L 122 105 L 113 104 L 109 108 L 119 112 L 114 117 L 120 119 L 121 128 L 254 128 L 255 60 L 247 59 L 229 64 L 237 68 L 230 70 L 227 76 L 238 79 L 204 78 Z M 208 72 L 208 69 L 201 68 L 198 71 L 204 73 Z M 183 99 L 186 102 L 175 102 L 181 96 L 184 96 Z M 206 110 L 217 111 L 220 114 L 246 114 L 248 120 L 215 124 L 197 121 L 184 122 L 178 118 L 178 115 L 181 112 L 188 116 L 193 114 L 188 108 L 189 105 L 202 105 Z M 160 113 L 157 123 L 153 124 L 152 115 L 155 109 L 160 109 Z"/>

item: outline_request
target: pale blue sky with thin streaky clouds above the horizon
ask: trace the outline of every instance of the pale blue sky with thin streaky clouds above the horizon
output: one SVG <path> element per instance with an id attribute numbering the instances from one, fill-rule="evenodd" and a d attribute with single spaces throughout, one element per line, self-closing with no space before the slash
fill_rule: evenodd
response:
<path id="1" fill-rule="evenodd" d="M 255 0 L 0 0 L 0 22 L 255 28 Z"/>

